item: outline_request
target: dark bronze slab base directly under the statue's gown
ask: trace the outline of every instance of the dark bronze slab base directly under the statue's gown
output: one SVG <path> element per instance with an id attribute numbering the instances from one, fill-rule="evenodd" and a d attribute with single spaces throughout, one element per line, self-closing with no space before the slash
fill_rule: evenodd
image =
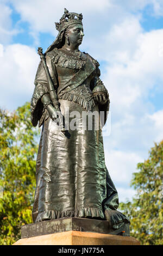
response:
<path id="1" fill-rule="evenodd" d="M 130 236 L 129 223 L 123 223 L 119 229 L 115 230 L 110 227 L 109 221 L 71 217 L 23 225 L 21 228 L 21 238 L 23 239 L 71 230 Z"/>

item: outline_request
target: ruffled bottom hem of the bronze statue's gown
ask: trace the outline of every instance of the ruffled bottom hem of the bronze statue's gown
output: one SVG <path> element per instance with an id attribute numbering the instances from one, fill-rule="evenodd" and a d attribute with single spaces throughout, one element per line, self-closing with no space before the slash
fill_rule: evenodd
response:
<path id="1" fill-rule="evenodd" d="M 40 212 L 35 222 L 55 220 L 57 218 L 79 217 L 79 218 L 102 218 L 104 219 L 103 211 L 94 207 L 83 207 L 79 210 L 56 211 L 45 210 Z"/>

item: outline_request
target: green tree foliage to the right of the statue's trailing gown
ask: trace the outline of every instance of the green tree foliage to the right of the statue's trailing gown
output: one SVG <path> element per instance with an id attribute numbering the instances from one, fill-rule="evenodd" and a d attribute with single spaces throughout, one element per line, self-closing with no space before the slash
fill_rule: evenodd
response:
<path id="1" fill-rule="evenodd" d="M 142 245 L 163 245 L 163 141 L 155 143 L 137 169 L 131 180 L 136 196 L 132 202 L 121 203 L 121 210 L 130 218 L 131 235 Z"/>

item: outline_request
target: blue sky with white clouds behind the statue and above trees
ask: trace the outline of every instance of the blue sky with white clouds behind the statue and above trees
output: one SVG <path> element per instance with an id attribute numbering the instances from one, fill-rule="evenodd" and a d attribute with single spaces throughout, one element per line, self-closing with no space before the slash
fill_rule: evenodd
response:
<path id="1" fill-rule="evenodd" d="M 101 64 L 110 95 L 111 133 L 104 134 L 106 166 L 120 201 L 134 194 L 136 164 L 163 138 L 163 3 L 161 0 L 1 0 L 0 107 L 30 101 L 43 51 L 57 35 L 64 7 L 83 13 L 81 51 Z"/>

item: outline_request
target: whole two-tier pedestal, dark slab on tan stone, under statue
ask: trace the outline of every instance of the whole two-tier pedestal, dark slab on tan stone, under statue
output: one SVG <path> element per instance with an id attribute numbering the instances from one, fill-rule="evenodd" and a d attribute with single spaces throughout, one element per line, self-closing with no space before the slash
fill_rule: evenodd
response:
<path id="1" fill-rule="evenodd" d="M 14 245 L 139 245 L 130 237 L 129 223 L 113 230 L 108 221 L 62 218 L 23 225 Z"/>

